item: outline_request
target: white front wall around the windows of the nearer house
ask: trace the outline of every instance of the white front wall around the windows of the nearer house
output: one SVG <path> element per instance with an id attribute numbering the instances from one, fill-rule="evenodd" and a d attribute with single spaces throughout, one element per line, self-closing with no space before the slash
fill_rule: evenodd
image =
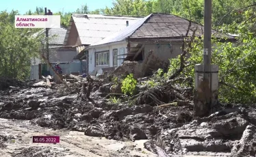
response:
<path id="1" fill-rule="evenodd" d="M 90 48 L 89 51 L 89 74 L 92 74 L 94 71 L 97 71 L 98 74 L 102 74 L 102 68 L 113 67 L 113 49 L 117 49 L 117 55 L 123 55 L 127 53 L 127 42 L 121 42 L 116 44 L 95 46 Z M 124 50 L 124 51 L 122 51 Z M 101 51 L 109 51 L 109 66 L 96 66 L 95 65 L 95 53 Z M 117 66 L 120 66 L 123 62 L 124 56 L 117 56 Z"/>

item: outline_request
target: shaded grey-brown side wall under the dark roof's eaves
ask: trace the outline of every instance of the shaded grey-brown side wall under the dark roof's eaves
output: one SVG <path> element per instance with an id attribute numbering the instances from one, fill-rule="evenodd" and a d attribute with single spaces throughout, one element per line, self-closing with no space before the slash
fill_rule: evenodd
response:
<path id="1" fill-rule="evenodd" d="M 182 44 L 145 44 L 144 56 L 147 57 L 148 53 L 153 50 L 154 55 L 168 61 L 168 59 L 177 57 L 182 53 L 181 47 Z"/>

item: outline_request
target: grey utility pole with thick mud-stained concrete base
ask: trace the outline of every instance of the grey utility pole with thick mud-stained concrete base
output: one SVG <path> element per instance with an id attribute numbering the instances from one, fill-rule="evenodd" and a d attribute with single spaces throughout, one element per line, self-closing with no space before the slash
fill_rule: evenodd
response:
<path id="1" fill-rule="evenodd" d="M 212 0 L 204 1 L 203 65 L 195 66 L 195 116 L 214 112 L 218 104 L 218 66 L 211 65 L 212 57 Z"/>

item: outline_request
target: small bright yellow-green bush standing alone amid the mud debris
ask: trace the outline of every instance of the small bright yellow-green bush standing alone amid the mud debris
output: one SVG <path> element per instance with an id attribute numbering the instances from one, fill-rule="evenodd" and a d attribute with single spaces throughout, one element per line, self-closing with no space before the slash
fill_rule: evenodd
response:
<path id="1" fill-rule="evenodd" d="M 135 88 L 137 85 L 136 79 L 134 79 L 133 74 L 129 74 L 124 78 L 124 81 L 122 81 L 122 92 L 124 94 L 134 94 Z"/>

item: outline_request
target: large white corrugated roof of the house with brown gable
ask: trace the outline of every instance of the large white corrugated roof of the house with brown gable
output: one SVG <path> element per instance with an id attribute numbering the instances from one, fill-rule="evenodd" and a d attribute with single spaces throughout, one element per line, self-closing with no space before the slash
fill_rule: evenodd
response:
<path id="1" fill-rule="evenodd" d="M 68 41 L 72 23 L 76 25 L 81 44 L 89 45 L 126 28 L 126 21 L 132 25 L 141 18 L 143 17 L 72 14 L 64 44 Z"/>

